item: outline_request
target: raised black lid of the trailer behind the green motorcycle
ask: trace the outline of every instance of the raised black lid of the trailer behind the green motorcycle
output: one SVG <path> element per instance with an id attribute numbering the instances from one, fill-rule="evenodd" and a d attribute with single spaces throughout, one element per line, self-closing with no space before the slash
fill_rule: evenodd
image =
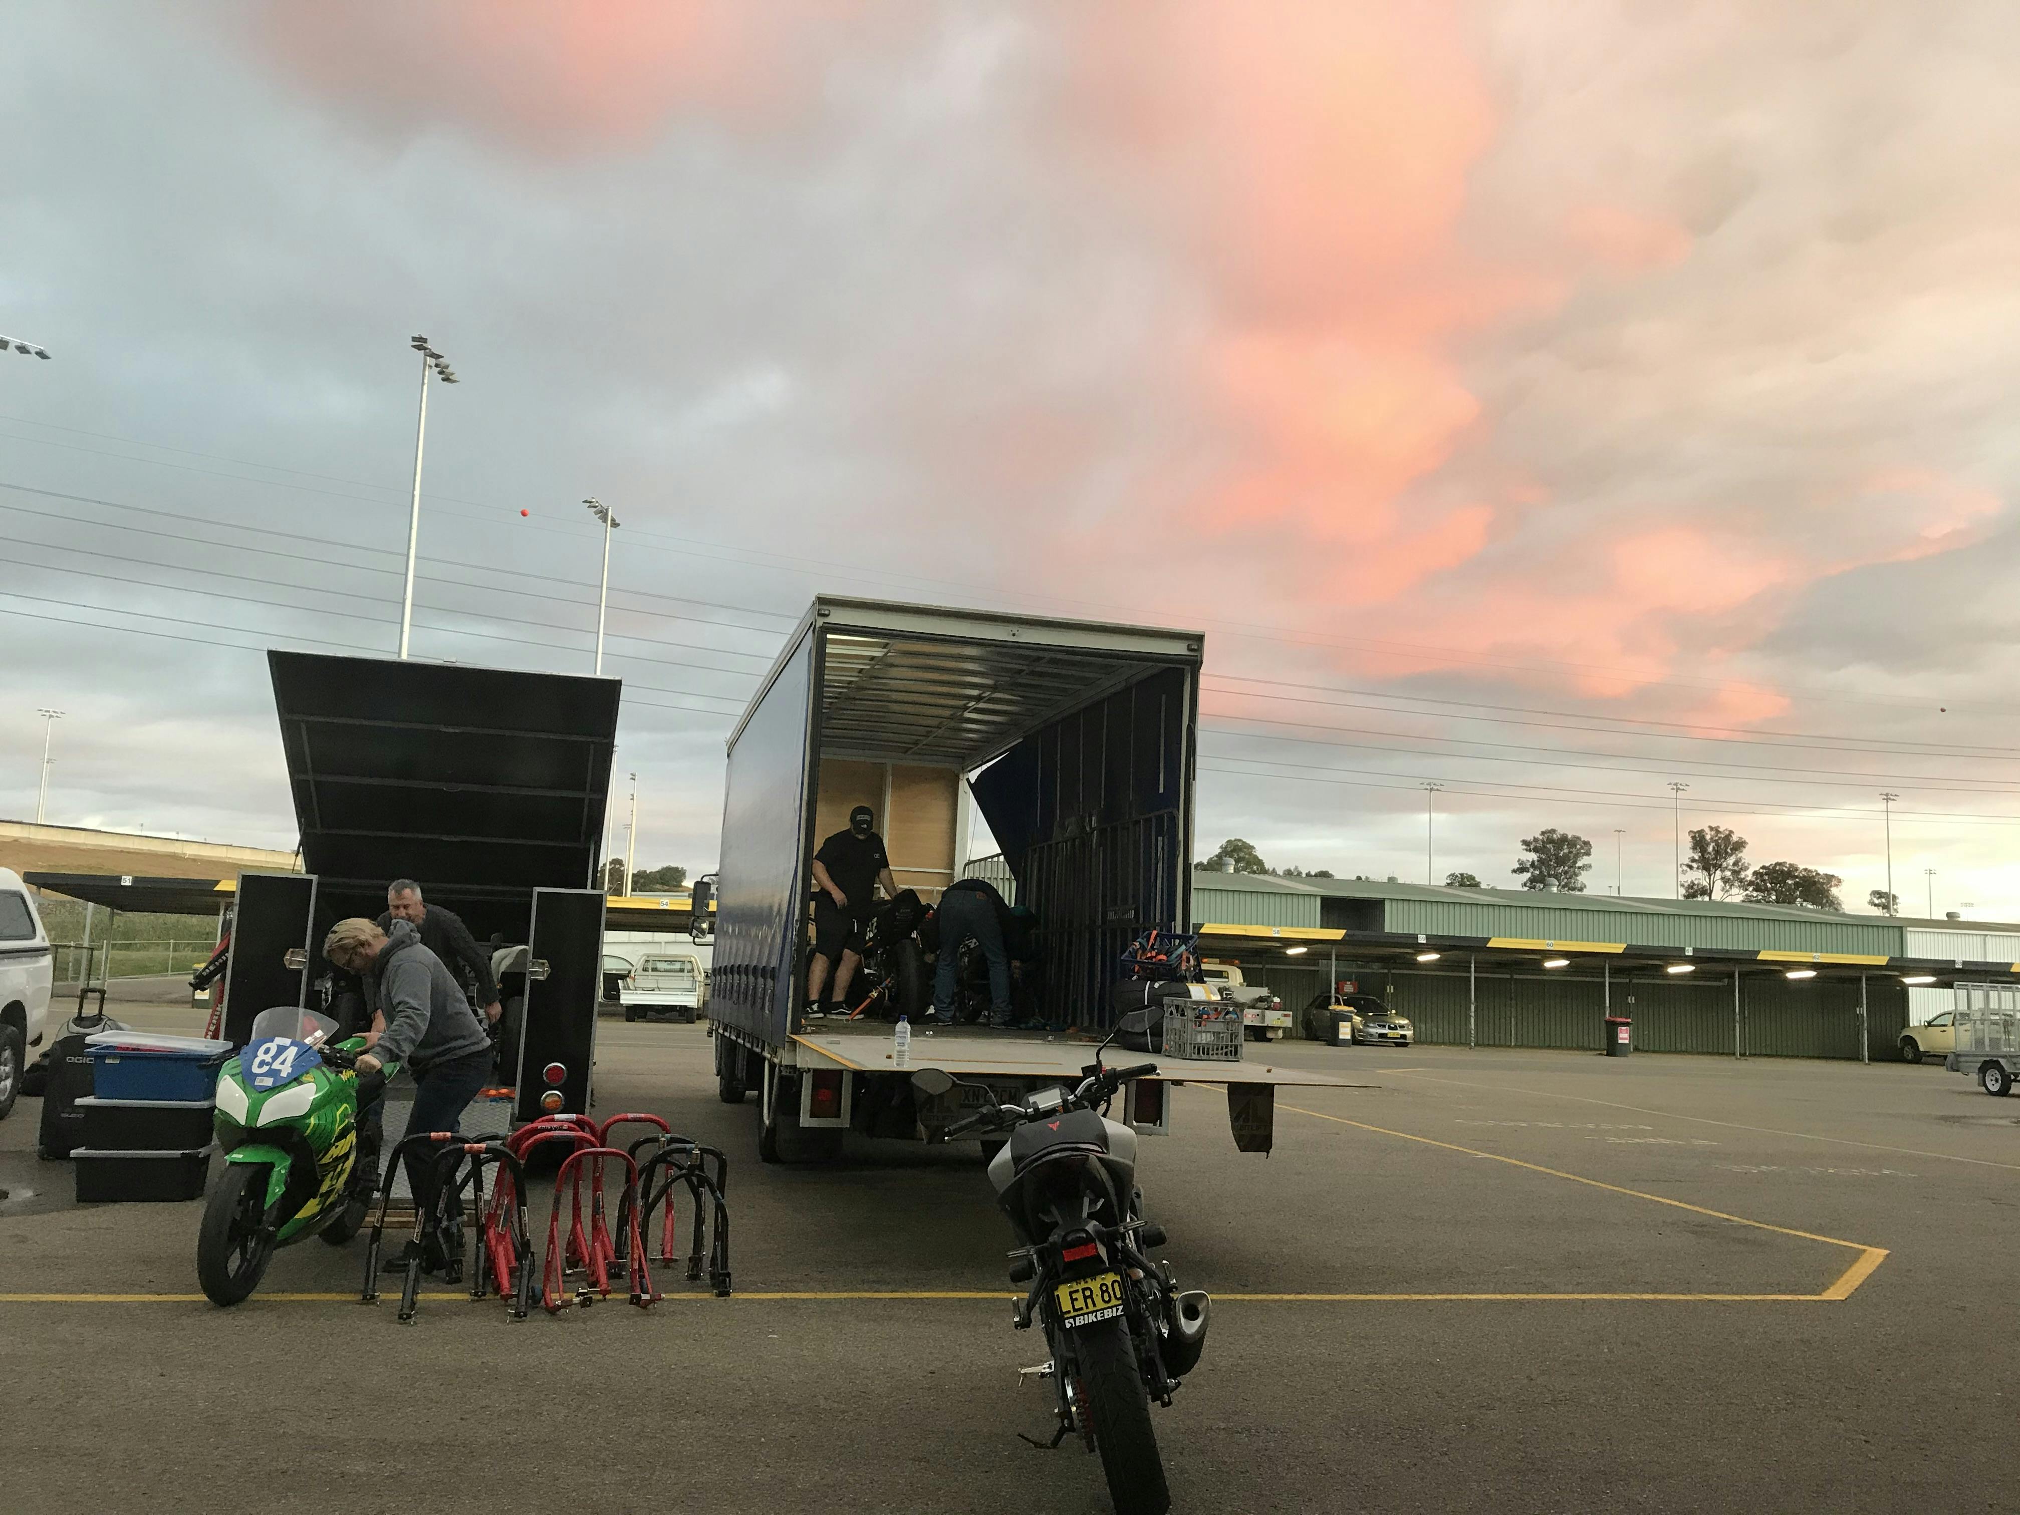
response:
<path id="1" fill-rule="evenodd" d="M 479 935 L 594 883 L 618 679 L 269 652 L 301 863 L 339 911 L 416 879 Z M 376 903 L 374 903 L 376 901 Z M 523 939 L 523 937 L 521 937 Z"/>

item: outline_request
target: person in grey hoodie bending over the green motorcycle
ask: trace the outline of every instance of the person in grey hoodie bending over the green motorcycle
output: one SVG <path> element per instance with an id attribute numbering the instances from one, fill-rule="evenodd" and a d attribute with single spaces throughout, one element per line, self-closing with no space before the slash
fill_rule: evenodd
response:
<path id="1" fill-rule="evenodd" d="M 408 1133 L 454 1131 L 465 1107 L 491 1081 L 491 1038 L 457 976 L 420 943 L 412 921 L 394 921 L 390 931 L 364 917 L 337 921 L 323 937 L 323 957 L 366 982 L 366 998 L 378 1006 L 376 1024 L 384 1024 L 368 1032 L 372 1050 L 358 1054 L 358 1073 L 404 1065 L 414 1075 Z M 432 1151 L 408 1153 L 406 1182 L 428 1226 L 422 1256 L 438 1269 L 454 1240 L 434 1234 Z"/>

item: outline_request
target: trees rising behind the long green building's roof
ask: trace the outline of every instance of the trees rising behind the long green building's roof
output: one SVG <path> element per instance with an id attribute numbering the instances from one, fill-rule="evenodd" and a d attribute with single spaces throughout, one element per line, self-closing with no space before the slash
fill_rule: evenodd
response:
<path id="1" fill-rule="evenodd" d="M 1586 893 L 1586 875 L 1592 873 L 1592 842 L 1578 832 L 1545 826 L 1535 836 L 1521 838 L 1521 854 L 1515 858 L 1511 875 L 1521 879 L 1523 889 L 1555 891 L 1563 895 Z M 1228 869 L 1232 873 L 1275 875 L 1279 879 L 1331 879 L 1329 869 L 1273 869 L 1252 842 L 1230 836 L 1206 858 L 1202 867 Z M 1729 826 L 1699 826 L 1691 832 L 1689 856 L 1679 865 L 1685 899 L 1737 899 L 1747 905 L 1806 905 L 1822 911 L 1842 911 L 1838 885 L 1844 883 L 1834 873 L 1812 869 L 1802 863 L 1761 863 L 1747 861 L 1747 838 Z M 1485 889 L 1477 875 L 1448 873 L 1444 883 L 1450 889 Z M 1866 903 L 1895 915 L 1899 897 L 1885 889 L 1866 895 Z"/>

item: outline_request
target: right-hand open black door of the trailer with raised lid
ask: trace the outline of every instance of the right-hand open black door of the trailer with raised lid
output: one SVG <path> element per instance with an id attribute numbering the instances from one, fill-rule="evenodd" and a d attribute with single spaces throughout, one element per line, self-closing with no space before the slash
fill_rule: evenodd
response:
<path id="1" fill-rule="evenodd" d="M 519 1038 L 519 1093 L 513 1115 L 588 1115 L 596 1004 L 602 998 L 604 893 L 535 889 L 527 943 L 525 1032 Z M 560 1075 L 549 1079 L 549 1069 Z M 562 1103 L 541 1101 L 558 1091 Z"/>

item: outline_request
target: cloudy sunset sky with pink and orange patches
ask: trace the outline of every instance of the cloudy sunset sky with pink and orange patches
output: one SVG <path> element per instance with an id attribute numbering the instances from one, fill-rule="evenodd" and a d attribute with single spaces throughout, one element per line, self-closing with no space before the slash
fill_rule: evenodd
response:
<path id="1" fill-rule="evenodd" d="M 1200 834 L 2020 917 L 2010 6 L 24 6 L 0 816 L 291 846 L 259 650 L 588 671 L 707 865 L 816 590 L 1204 628 Z M 1620 832 L 1616 838 L 1616 830 Z M 1925 869 L 1935 869 L 1933 881 Z"/>

